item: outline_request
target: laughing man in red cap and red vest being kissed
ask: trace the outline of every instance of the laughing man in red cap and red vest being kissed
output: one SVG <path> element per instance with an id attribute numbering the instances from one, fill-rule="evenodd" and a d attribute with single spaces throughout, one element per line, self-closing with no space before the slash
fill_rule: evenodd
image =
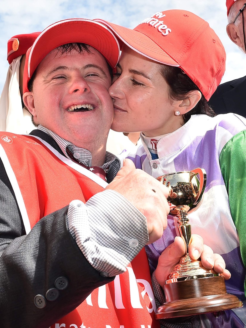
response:
<path id="1" fill-rule="evenodd" d="M 87 19 L 52 24 L 27 52 L 23 101 L 38 126 L 0 137 L 2 327 L 159 325 L 143 247 L 167 226 L 168 192 L 106 152 L 118 58 L 112 32 Z M 182 239 L 173 247 L 164 276 L 184 254 Z"/>

